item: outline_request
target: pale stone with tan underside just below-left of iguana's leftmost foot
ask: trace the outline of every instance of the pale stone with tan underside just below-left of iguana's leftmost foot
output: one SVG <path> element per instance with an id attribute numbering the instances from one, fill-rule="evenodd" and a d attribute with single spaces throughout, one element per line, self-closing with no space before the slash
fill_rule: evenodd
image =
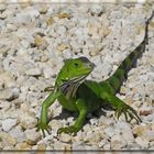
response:
<path id="1" fill-rule="evenodd" d="M 34 145 L 37 143 L 37 141 L 41 140 L 41 133 L 35 131 L 34 129 L 31 130 L 25 130 L 25 136 L 26 136 L 26 142 L 30 145 Z"/>

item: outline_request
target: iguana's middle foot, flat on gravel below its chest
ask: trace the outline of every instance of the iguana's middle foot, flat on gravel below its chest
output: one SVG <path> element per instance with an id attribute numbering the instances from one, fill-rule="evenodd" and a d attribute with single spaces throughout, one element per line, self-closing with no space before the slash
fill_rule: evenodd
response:
<path id="1" fill-rule="evenodd" d="M 67 134 L 73 134 L 73 135 L 76 135 L 77 132 L 79 131 L 80 129 L 78 129 L 77 127 L 66 127 L 66 128 L 59 128 L 58 131 L 57 131 L 57 135 L 61 134 L 61 133 L 67 133 Z"/>

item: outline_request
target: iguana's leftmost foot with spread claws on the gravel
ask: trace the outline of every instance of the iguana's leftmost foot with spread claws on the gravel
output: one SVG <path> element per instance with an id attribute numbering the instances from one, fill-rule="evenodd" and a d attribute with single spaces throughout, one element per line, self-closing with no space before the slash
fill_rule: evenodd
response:
<path id="1" fill-rule="evenodd" d="M 44 122 L 37 122 L 37 124 L 36 124 L 36 131 L 42 131 L 42 133 L 43 133 L 43 136 L 45 138 L 45 131 L 48 133 L 48 134 L 51 134 L 50 133 L 50 125 L 47 124 L 47 123 L 44 123 Z"/>

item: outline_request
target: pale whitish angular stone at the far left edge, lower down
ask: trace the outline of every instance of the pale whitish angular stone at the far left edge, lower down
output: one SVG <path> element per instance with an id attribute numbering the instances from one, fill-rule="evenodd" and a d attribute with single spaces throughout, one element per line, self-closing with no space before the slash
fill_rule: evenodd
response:
<path id="1" fill-rule="evenodd" d="M 18 120 L 16 119 L 6 119 L 2 120 L 2 129 L 6 132 L 9 132 L 14 125 L 16 125 Z"/>

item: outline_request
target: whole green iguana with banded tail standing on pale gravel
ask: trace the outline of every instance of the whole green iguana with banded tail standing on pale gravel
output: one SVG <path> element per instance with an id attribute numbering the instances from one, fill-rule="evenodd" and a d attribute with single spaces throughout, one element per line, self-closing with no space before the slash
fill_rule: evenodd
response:
<path id="1" fill-rule="evenodd" d="M 134 63 L 145 51 L 148 41 L 148 23 L 153 16 L 154 11 L 145 22 L 145 35 L 141 44 L 129 54 L 113 75 L 107 80 L 86 80 L 86 77 L 95 68 L 95 64 L 87 57 L 69 58 L 65 61 L 65 64 L 56 78 L 53 91 L 42 105 L 37 131 L 41 130 L 43 136 L 45 136 L 45 131 L 50 133 L 47 112 L 48 107 L 52 106 L 56 99 L 65 109 L 78 112 L 75 124 L 58 129 L 57 134 L 64 132 L 75 135 L 84 127 L 87 113 L 98 110 L 105 102 L 111 105 L 116 110 L 118 119 L 123 113 L 127 121 L 135 119 L 138 122 L 141 122 L 136 111 L 119 99 L 116 94 L 127 78 L 128 72 L 134 67 Z"/>

